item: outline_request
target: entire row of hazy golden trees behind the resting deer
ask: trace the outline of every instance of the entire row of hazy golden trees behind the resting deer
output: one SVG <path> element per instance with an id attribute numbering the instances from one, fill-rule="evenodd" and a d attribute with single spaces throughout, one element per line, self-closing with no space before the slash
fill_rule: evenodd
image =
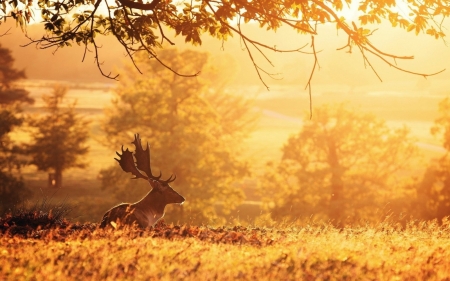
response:
<path id="1" fill-rule="evenodd" d="M 43 95 L 38 112 L 24 110 L 34 102 L 18 84 L 25 73 L 0 48 L 0 213 L 51 194 L 67 198 L 78 220 L 98 221 L 111 206 L 139 200 L 149 185 L 130 180 L 112 159 L 122 145 L 133 149 L 133 135 L 140 133 L 151 146 L 152 168 L 176 174 L 173 187 L 187 199 L 183 207 L 167 210 L 166 221 L 267 224 L 313 218 L 345 224 L 450 215 L 449 99 L 436 108 L 439 117 L 430 128 L 447 152 L 430 163 L 421 160 L 407 127 L 391 129 L 372 114 L 336 103 L 315 106 L 312 119 L 306 113 L 301 129 L 284 142 L 281 158 L 260 168 L 265 160 L 249 158 L 245 142 L 257 129 L 259 112 L 248 93 L 230 90 L 232 72 L 225 64 L 190 50 L 168 49 L 159 57 L 180 73 L 202 75 L 180 77 L 138 57 L 145 74 L 126 66 L 111 104 L 101 120 L 93 120 L 76 111 L 64 86 Z M 111 166 L 95 171 L 89 183 L 66 188 L 68 169 L 92 173 L 93 139 L 112 152 L 101 156 L 111 158 Z M 31 181 L 24 169 L 45 176 Z"/>

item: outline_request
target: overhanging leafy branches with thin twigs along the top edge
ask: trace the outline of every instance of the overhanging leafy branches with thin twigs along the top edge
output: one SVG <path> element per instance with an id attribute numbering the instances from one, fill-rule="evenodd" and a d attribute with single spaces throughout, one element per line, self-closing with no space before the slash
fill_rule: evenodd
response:
<path id="1" fill-rule="evenodd" d="M 30 22 L 32 18 L 35 2 L 3 0 L 0 3 L 3 5 L 0 11 L 0 22 L 2 19 L 12 17 L 22 29 L 25 29 L 27 22 Z M 317 66 L 314 38 L 320 33 L 321 25 L 333 24 L 348 36 L 348 42 L 340 49 L 346 49 L 349 52 L 353 49 L 358 50 L 366 65 L 370 66 L 375 74 L 376 71 L 368 55 L 409 73 L 420 76 L 436 74 L 415 73 L 399 67 L 397 60 L 413 57 L 386 53 L 383 48 L 370 40 L 370 36 L 378 29 L 378 24 L 387 22 L 393 28 L 398 27 L 407 32 L 425 33 L 436 39 L 444 38 L 444 20 L 450 15 L 445 2 L 411 0 L 401 2 L 400 6 L 397 6 L 396 1 L 366 0 L 357 3 L 360 14 L 357 22 L 345 17 L 345 10 L 349 10 L 353 3 L 354 1 L 351 0 L 180 2 L 152 0 L 146 3 L 117 0 L 113 5 L 107 0 L 38 1 L 45 32 L 42 37 L 32 40 L 30 44 L 36 43 L 41 48 L 60 48 L 74 43 L 84 45 L 86 49 L 92 46 L 102 74 L 109 78 L 116 78 L 117 76 L 104 72 L 101 67 L 101 44 L 99 43 L 101 35 L 114 36 L 132 61 L 136 51 L 144 51 L 168 69 L 180 75 L 189 76 L 196 75 L 198 72 L 173 69 L 168 61 L 157 55 L 157 49 L 163 45 L 164 41 L 174 45 L 172 37 L 182 36 L 185 42 L 199 45 L 202 43 L 203 34 L 209 34 L 218 40 L 227 40 L 230 36 L 237 35 L 261 80 L 262 74 L 269 76 L 271 74 L 262 69 L 254 58 L 256 54 L 261 53 L 263 58 L 271 63 L 267 57 L 268 51 L 304 52 L 313 55 L 315 62 L 312 77 Z M 410 16 L 403 16 L 408 14 Z M 243 28 L 250 23 L 257 23 L 261 28 L 273 32 L 285 27 L 309 36 L 311 44 L 308 46 L 311 49 L 305 50 L 307 45 L 293 50 L 282 49 L 277 47 L 282 44 L 281 42 L 264 42 L 254 39 Z M 311 78 L 308 86 L 311 85 L 310 82 Z"/>

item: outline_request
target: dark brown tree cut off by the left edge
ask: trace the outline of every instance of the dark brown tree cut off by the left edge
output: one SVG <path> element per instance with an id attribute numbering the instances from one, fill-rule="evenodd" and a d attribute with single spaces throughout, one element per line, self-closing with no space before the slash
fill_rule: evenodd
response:
<path id="1" fill-rule="evenodd" d="M 0 45 L 0 214 L 27 194 L 20 177 L 25 164 L 23 151 L 11 139 L 11 133 L 23 122 L 21 105 L 33 103 L 28 91 L 17 85 L 24 78 L 25 72 L 14 68 L 10 50 Z"/>

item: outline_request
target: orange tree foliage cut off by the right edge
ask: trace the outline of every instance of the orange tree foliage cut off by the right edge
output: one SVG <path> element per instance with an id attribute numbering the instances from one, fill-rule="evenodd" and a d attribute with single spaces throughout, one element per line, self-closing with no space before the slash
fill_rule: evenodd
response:
<path id="1" fill-rule="evenodd" d="M 428 206 L 425 218 L 439 218 L 450 215 L 450 99 L 439 103 L 439 117 L 431 133 L 439 136 L 445 155 L 430 163 L 419 187 L 422 204 Z"/>

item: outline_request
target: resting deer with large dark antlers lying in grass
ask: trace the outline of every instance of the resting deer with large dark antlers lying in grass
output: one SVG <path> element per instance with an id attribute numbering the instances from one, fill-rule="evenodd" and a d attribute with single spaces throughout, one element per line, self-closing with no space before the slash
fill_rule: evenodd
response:
<path id="1" fill-rule="evenodd" d="M 121 203 L 112 207 L 105 213 L 100 223 L 101 228 L 117 225 L 133 225 L 147 228 L 154 226 L 162 217 L 164 217 L 164 209 L 168 204 L 180 204 L 185 201 L 184 197 L 176 192 L 169 183 L 175 181 L 176 175 L 171 175 L 167 180 L 162 180 L 161 171 L 159 176 L 154 176 L 150 163 L 150 147 L 144 150 L 141 145 L 139 134 L 134 135 L 132 142 L 136 147 L 134 156 L 131 151 L 123 150 L 122 154 L 116 152 L 123 171 L 134 175 L 132 179 L 145 179 L 149 182 L 152 189 L 141 200 L 136 203 Z M 136 160 L 135 160 L 136 159 Z M 145 173 L 145 175 L 142 173 Z"/>

